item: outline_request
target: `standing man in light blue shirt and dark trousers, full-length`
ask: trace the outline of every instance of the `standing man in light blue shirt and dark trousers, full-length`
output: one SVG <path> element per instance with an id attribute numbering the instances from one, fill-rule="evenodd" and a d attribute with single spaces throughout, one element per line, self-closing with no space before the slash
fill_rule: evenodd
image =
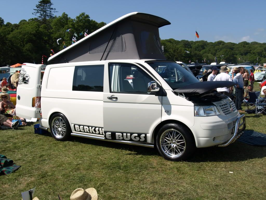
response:
<path id="1" fill-rule="evenodd" d="M 236 74 L 234 76 L 234 73 Z M 244 69 L 241 67 L 234 67 L 232 71 L 232 79 L 235 84 L 235 106 L 236 109 L 238 109 L 239 113 L 244 113 L 245 111 L 242 110 L 241 104 L 243 102 L 243 87 L 244 87 L 244 81 L 243 81 L 243 75 Z"/>

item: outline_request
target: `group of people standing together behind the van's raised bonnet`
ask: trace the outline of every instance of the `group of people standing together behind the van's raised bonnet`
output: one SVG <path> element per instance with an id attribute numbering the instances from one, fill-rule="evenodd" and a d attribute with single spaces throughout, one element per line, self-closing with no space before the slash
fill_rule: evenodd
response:
<path id="1" fill-rule="evenodd" d="M 216 66 L 212 67 L 211 71 L 212 73 L 208 76 L 207 81 L 232 81 L 235 83 L 235 86 L 232 86 L 230 88 L 217 88 L 217 92 L 227 95 L 228 97 L 230 97 L 231 93 L 234 93 L 236 109 L 240 113 L 245 113 L 245 111 L 242 110 L 241 107 L 244 99 L 244 93 L 246 92 L 245 97 L 247 97 L 248 92 L 255 92 L 253 90 L 255 81 L 253 70 L 250 70 L 249 73 L 248 70 L 244 70 L 243 67 L 234 67 L 232 69 L 232 77 L 229 75 L 230 69 L 228 69 L 226 66 L 221 67 L 220 74 L 218 75 L 217 73 L 219 72 L 219 69 Z"/>

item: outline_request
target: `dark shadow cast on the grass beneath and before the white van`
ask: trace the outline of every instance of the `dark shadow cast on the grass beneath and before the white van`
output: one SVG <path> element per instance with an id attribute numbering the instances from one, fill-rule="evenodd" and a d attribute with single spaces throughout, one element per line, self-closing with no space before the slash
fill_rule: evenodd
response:
<path id="1" fill-rule="evenodd" d="M 45 133 L 43 136 L 52 137 L 51 133 Z M 71 137 L 70 142 L 84 143 L 88 145 L 101 146 L 111 149 L 121 149 L 129 151 L 126 155 L 159 155 L 156 148 L 127 145 L 110 141 L 101 141 L 96 139 Z M 236 141 L 227 147 L 207 147 L 196 149 L 194 155 L 188 162 L 228 162 L 228 161 L 246 161 L 255 158 L 266 157 L 266 146 L 253 146 Z"/>

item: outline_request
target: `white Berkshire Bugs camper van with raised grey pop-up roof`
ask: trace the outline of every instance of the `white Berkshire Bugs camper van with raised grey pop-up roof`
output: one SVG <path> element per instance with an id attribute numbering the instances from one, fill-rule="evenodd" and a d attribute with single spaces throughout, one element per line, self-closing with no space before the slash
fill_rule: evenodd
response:
<path id="1" fill-rule="evenodd" d="M 17 115 L 40 118 L 40 128 L 57 140 L 156 147 L 172 161 L 187 159 L 196 147 L 234 142 L 245 117 L 213 90 L 234 83 L 199 82 L 165 60 L 158 28 L 167 24 L 154 15 L 127 14 L 50 57 L 42 83 L 44 66 L 24 63 Z"/>

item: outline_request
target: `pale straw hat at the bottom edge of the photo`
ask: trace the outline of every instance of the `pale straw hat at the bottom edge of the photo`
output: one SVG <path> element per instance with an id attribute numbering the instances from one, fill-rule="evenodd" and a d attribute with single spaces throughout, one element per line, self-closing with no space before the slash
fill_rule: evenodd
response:
<path id="1" fill-rule="evenodd" d="M 70 196 L 70 200 L 97 200 L 97 191 L 91 187 L 86 190 L 83 188 L 78 188 L 74 190 Z"/>

